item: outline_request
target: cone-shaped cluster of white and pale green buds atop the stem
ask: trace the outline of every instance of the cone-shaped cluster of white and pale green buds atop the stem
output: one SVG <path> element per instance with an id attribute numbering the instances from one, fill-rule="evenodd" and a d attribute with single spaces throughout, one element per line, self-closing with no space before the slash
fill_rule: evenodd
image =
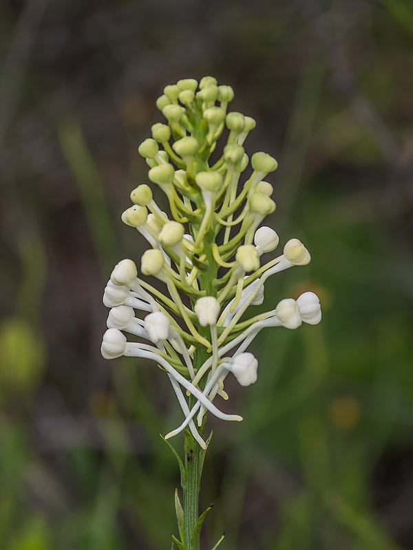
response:
<path id="1" fill-rule="evenodd" d="M 275 210 L 273 186 L 264 178 L 277 161 L 255 153 L 251 175 L 242 178 L 250 164 L 243 144 L 255 120 L 227 112 L 232 99 L 233 89 L 218 86 L 211 76 L 165 87 L 156 104 L 167 124 L 154 124 L 152 137 L 138 150 L 149 165 L 149 180 L 165 193 L 170 214 L 159 208 L 147 184 L 131 192 L 133 206 L 122 219 L 151 248 L 140 260 L 142 276 L 130 259 L 116 265 L 103 298 L 111 308 L 103 357 L 130 355 L 160 365 L 184 412 L 181 426 L 166 437 L 188 426 L 203 448 L 199 427 L 207 411 L 224 420 L 242 420 L 222 412 L 213 399 L 217 394 L 228 399 L 224 380 L 230 372 L 242 386 L 257 380 L 258 362 L 246 351 L 257 333 L 264 327 L 296 329 L 302 322 L 321 320 L 313 292 L 281 300 L 264 314 L 244 316 L 250 305 L 263 303 L 268 277 L 306 265 L 310 254 L 301 241 L 290 239 L 282 254 L 261 261 L 279 243 L 273 229 L 260 226 Z M 213 154 L 223 132 L 222 155 Z M 165 283 L 167 295 L 145 276 Z M 136 310 L 145 313 L 136 316 Z M 127 341 L 124 332 L 139 341 Z"/>

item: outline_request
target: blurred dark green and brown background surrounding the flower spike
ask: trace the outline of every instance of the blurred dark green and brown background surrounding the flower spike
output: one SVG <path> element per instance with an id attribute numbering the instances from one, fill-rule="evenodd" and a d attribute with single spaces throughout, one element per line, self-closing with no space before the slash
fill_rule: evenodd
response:
<path id="1" fill-rule="evenodd" d="M 145 248 L 120 213 L 155 100 L 208 74 L 313 256 L 266 304 L 310 289 L 324 319 L 263 332 L 244 422 L 209 422 L 205 548 L 412 549 L 412 2 L 3 0 L 0 30 L 1 549 L 171 547 L 180 410 L 153 364 L 100 357 L 101 296 Z"/>

